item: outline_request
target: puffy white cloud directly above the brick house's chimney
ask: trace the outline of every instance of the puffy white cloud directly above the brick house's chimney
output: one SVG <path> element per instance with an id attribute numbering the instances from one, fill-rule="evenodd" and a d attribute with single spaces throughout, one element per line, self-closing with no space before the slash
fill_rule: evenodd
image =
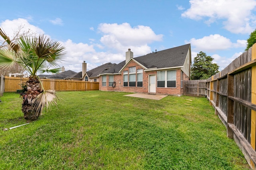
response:
<path id="1" fill-rule="evenodd" d="M 100 42 L 110 50 L 123 53 L 130 48 L 136 55 L 149 53 L 151 50 L 148 43 L 162 41 L 163 37 L 162 34 L 156 35 L 148 26 L 131 27 L 129 23 L 102 23 L 98 30 L 103 33 Z M 137 49 L 142 51 L 136 51 Z"/>

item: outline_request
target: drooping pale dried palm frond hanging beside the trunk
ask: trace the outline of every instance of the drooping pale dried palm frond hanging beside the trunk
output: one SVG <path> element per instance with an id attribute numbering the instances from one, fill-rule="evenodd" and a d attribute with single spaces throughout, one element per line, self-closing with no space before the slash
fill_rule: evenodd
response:
<path id="1" fill-rule="evenodd" d="M 36 114 L 42 115 L 44 113 L 44 108 L 47 109 L 47 111 L 50 109 L 53 105 L 57 105 L 56 100 L 57 96 L 55 95 L 54 90 L 47 90 L 39 94 L 34 100 L 32 101 L 32 106 L 34 107 L 34 110 L 36 110 Z"/>

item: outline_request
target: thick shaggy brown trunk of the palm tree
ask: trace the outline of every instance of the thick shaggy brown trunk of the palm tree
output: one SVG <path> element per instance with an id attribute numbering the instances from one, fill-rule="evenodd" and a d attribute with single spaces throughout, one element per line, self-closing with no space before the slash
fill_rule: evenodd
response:
<path id="1" fill-rule="evenodd" d="M 40 81 L 37 76 L 30 76 L 26 82 L 25 90 L 22 95 L 22 112 L 24 113 L 24 119 L 36 120 L 40 116 L 40 113 L 32 106 L 32 101 L 38 94 L 42 93 Z"/>

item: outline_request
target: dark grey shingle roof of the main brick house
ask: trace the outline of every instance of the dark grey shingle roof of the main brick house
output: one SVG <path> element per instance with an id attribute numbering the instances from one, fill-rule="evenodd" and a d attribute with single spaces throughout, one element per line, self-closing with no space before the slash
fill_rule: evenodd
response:
<path id="1" fill-rule="evenodd" d="M 187 53 L 189 52 L 190 44 L 182 45 L 179 47 L 174 47 L 171 49 L 166 49 L 162 51 L 157 51 L 154 53 L 149 53 L 144 56 L 131 58 L 130 60 L 134 60 L 140 65 L 144 66 L 144 68 L 170 68 L 170 67 L 178 67 L 183 66 Z M 128 62 L 129 63 L 129 62 Z M 109 70 L 105 70 L 99 74 L 115 74 L 124 68 L 124 66 L 128 63 L 125 61 L 116 64 Z M 98 74 L 98 75 L 99 75 Z"/>

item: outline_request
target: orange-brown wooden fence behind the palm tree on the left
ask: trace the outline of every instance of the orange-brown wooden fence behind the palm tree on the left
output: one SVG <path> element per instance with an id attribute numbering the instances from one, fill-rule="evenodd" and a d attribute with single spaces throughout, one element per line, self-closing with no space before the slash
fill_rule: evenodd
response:
<path id="1" fill-rule="evenodd" d="M 4 92 L 16 92 L 22 89 L 21 84 L 28 78 L 4 77 Z M 45 90 L 56 91 L 86 91 L 99 90 L 99 82 L 84 82 L 73 80 L 40 79 Z"/>

